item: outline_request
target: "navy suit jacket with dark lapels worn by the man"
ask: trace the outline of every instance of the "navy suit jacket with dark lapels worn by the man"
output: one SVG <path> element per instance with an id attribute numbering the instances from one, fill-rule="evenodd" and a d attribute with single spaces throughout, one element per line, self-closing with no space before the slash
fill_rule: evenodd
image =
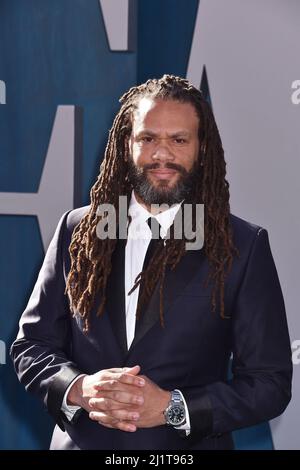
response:
<path id="1" fill-rule="evenodd" d="M 62 216 L 11 348 L 20 381 L 40 396 L 57 423 L 51 448 L 231 449 L 231 431 L 281 414 L 291 397 L 292 363 L 267 231 L 230 216 L 240 252 L 226 281 L 230 319 L 211 312 L 210 288 L 203 287 L 208 274 L 204 250 L 187 251 L 166 273 L 165 327 L 156 288 L 127 350 L 124 243 L 118 242 L 113 254 L 105 312 L 96 317 L 95 305 L 88 334 L 80 316 L 71 317 L 64 295 L 72 231 L 88 209 Z M 78 374 L 135 364 L 160 387 L 183 392 L 191 419 L 188 437 L 167 425 L 135 433 L 108 429 L 85 411 L 72 423 L 66 420 L 63 396 Z"/>

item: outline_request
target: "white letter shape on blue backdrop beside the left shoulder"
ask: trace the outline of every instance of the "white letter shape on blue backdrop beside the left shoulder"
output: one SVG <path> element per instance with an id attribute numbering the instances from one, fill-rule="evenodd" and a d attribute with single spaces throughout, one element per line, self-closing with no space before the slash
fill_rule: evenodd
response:
<path id="1" fill-rule="evenodd" d="M 74 106 L 59 106 L 37 193 L 0 193 L 0 214 L 36 215 L 46 251 L 61 215 L 73 208 Z"/>

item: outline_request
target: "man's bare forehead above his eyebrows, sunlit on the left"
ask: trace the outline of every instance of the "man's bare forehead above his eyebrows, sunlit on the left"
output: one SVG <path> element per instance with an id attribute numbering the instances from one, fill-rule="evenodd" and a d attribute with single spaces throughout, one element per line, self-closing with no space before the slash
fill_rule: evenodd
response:
<path id="1" fill-rule="evenodd" d="M 198 132 L 199 118 L 191 103 L 175 100 L 141 98 L 133 113 L 133 130 L 185 130 Z"/>

